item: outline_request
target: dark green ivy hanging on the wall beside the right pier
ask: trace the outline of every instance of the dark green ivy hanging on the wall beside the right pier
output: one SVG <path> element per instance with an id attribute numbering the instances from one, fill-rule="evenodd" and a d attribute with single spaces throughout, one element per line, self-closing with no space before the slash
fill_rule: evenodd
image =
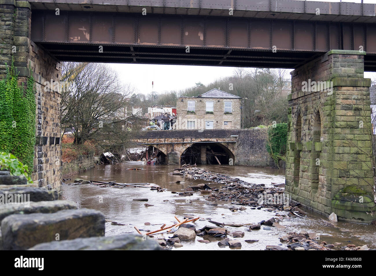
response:
<path id="1" fill-rule="evenodd" d="M 287 124 L 280 123 L 268 127 L 266 149 L 279 167 L 279 160 L 286 161 Z"/>

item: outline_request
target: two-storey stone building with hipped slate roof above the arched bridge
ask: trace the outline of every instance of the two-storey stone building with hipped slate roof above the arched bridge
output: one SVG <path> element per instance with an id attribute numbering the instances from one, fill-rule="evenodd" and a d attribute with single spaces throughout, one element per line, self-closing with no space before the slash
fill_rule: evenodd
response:
<path id="1" fill-rule="evenodd" d="M 176 101 L 176 129 L 239 129 L 241 98 L 219 89 Z"/>

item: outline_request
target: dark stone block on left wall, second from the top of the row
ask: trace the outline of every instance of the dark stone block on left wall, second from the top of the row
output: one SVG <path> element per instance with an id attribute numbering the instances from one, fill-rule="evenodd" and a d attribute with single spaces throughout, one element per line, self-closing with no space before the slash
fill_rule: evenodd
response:
<path id="1" fill-rule="evenodd" d="M 6 187 L 0 189 L 0 204 L 9 203 L 9 195 L 26 195 L 28 201 L 52 201 L 58 199 L 58 192 L 38 187 Z M 7 202 L 4 202 L 7 201 Z"/>

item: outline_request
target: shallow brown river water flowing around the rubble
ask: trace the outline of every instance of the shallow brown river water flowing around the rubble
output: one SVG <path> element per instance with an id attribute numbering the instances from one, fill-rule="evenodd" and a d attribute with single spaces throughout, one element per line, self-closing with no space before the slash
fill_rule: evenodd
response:
<path id="1" fill-rule="evenodd" d="M 130 168 L 142 168 L 143 170 L 129 170 Z M 223 223 L 258 223 L 261 220 L 267 220 L 273 217 L 276 213 L 269 212 L 266 208 L 261 210 L 252 210 L 246 207 L 245 211 L 232 212 L 229 207 L 230 202 L 216 202 L 218 206 L 210 206 L 213 202 L 207 201 L 205 195 L 195 193 L 193 196 L 179 196 L 171 193 L 181 192 L 182 189 L 192 186 L 193 184 L 206 183 L 212 188 L 219 188 L 223 184 L 217 182 L 207 182 L 200 179 L 185 179 L 180 175 L 169 175 L 173 172 L 173 165 L 143 165 L 139 161 L 128 161 L 121 164 L 114 165 L 99 165 L 86 172 L 77 175 L 65 176 L 65 178 L 82 178 L 97 181 L 118 181 L 121 183 L 140 183 L 149 182 L 155 183 L 162 188 L 166 188 L 165 192 L 157 192 L 141 187 L 124 187 L 124 188 L 100 188 L 98 186 L 86 185 L 63 185 L 62 199 L 71 200 L 77 203 L 80 208 L 92 208 L 101 211 L 106 220 L 106 235 L 119 235 L 124 233 L 136 233 L 133 228 L 155 231 L 159 229 L 164 223 L 172 225 L 176 223 L 174 216 L 183 219 L 184 216 L 199 216 L 206 219 L 205 221 L 196 221 L 196 229 L 200 229 L 205 225 L 214 226 L 208 222 L 212 219 L 216 222 Z M 236 176 L 243 181 L 265 184 L 265 186 L 272 186 L 271 182 L 283 183 L 285 182 L 284 170 L 259 168 L 249 166 L 226 166 L 226 165 L 199 165 L 198 167 L 205 168 L 211 172 L 227 174 Z M 87 177 L 85 177 L 87 176 Z M 177 184 L 176 181 L 184 181 Z M 136 198 L 148 198 L 148 204 L 154 206 L 145 207 L 144 201 L 133 201 Z M 187 202 L 186 199 L 190 199 Z M 277 229 L 270 227 L 270 230 L 247 231 L 247 226 L 230 227 L 226 229 L 232 231 L 243 231 L 245 233 L 243 238 L 236 238 L 241 241 L 241 249 L 248 250 L 264 250 L 267 245 L 280 245 L 286 247 L 288 243 L 281 243 L 279 237 L 286 235 L 288 232 L 300 232 L 302 230 L 308 232 L 316 232 L 320 234 L 320 240 L 326 241 L 328 244 L 340 242 L 343 245 L 355 244 L 361 246 L 367 244 L 369 248 L 376 249 L 376 227 L 372 225 L 363 225 L 349 222 L 335 223 L 336 228 L 325 227 L 322 225 L 320 219 L 326 219 L 316 213 L 305 210 L 308 215 L 305 218 L 291 217 L 285 218 L 281 223 L 285 225 L 286 229 Z M 277 212 L 280 214 L 287 214 L 287 212 Z M 124 226 L 111 225 L 111 221 L 126 224 Z M 144 223 L 149 222 L 151 225 L 146 226 Z M 141 231 L 143 232 L 143 231 Z M 165 231 L 164 231 L 165 232 Z M 145 233 L 145 232 L 143 232 Z M 173 234 L 155 234 L 155 238 L 168 238 Z M 172 250 L 229 250 L 229 247 L 218 247 L 217 241 L 221 238 L 214 238 L 206 236 L 205 239 L 212 241 L 211 243 L 200 243 L 197 240 L 202 237 L 196 237 L 196 241 L 182 241 L 183 247 L 174 248 Z M 245 240 L 259 240 L 255 243 L 247 243 Z M 335 247 L 339 249 L 339 247 Z"/>

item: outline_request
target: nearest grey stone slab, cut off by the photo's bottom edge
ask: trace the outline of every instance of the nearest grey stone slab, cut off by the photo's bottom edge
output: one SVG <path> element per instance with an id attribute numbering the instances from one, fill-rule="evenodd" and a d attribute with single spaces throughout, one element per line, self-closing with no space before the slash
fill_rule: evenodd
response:
<path id="1" fill-rule="evenodd" d="M 109 237 L 76 238 L 51 241 L 31 247 L 29 250 L 161 250 L 153 239 L 141 235 L 123 234 Z"/>

